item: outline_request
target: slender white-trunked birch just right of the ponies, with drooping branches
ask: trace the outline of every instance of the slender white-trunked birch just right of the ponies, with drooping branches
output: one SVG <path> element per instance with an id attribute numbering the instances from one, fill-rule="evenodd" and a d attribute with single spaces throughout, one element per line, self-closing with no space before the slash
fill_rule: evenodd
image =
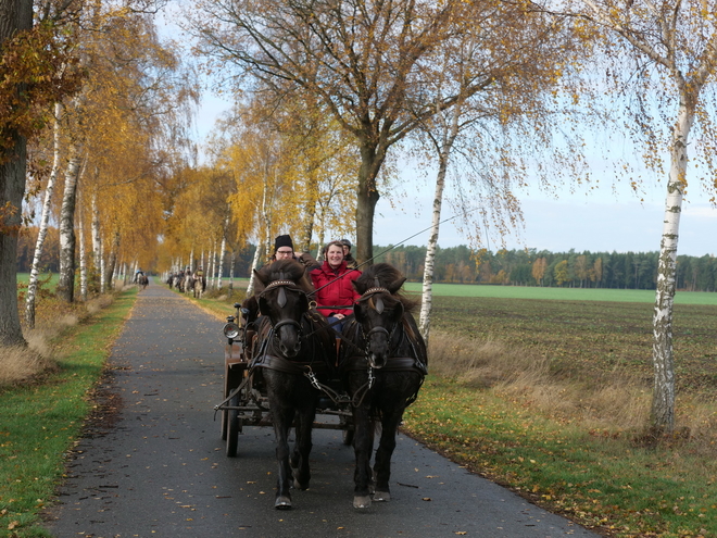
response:
<path id="1" fill-rule="evenodd" d="M 458 193 L 453 202 L 464 215 L 464 224 L 488 234 L 485 228 L 491 222 L 504 239 L 511 228 L 521 224 L 514 192 L 529 180 L 530 162 L 570 163 L 568 167 L 576 171 L 584 160 L 579 137 L 570 135 L 555 143 L 563 130 L 557 125 L 567 114 L 553 96 L 579 54 L 569 26 L 557 17 L 512 4 L 483 8 L 476 7 L 468 15 L 474 23 L 469 30 L 441 43 L 424 83 L 430 87 L 427 95 L 436 98 L 436 110 L 420 121 L 417 138 L 437 166 L 419 320 L 426 340 L 451 163 Z M 470 91 L 471 76 L 493 83 Z M 452 93 L 458 96 L 455 103 L 442 108 Z M 419 118 L 422 109 L 417 112 Z M 553 165 L 543 165 L 543 171 L 551 182 L 557 177 Z M 475 248 L 481 246 L 482 235 L 469 234 Z"/>

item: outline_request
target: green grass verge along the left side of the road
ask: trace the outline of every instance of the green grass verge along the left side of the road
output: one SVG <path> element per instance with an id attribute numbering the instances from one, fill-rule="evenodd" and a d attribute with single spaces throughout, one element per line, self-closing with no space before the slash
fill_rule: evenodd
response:
<path id="1" fill-rule="evenodd" d="M 56 367 L 0 389 L 0 536 L 50 536 L 39 514 L 53 497 L 65 454 L 92 409 L 91 391 L 120 334 L 136 289 L 55 338 Z"/>

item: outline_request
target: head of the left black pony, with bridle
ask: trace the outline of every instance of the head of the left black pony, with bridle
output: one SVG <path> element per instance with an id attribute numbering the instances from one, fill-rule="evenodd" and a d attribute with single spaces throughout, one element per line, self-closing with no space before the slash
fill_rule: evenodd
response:
<path id="1" fill-rule="evenodd" d="M 278 340 L 279 352 L 297 356 L 301 349 L 301 318 L 309 310 L 311 284 L 304 267 L 294 260 L 276 262 L 254 271 L 259 311 L 266 316 Z"/>

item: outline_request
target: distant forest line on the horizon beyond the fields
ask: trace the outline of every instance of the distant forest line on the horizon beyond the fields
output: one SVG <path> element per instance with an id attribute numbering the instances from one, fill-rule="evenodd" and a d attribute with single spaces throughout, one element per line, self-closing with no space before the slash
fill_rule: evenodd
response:
<path id="1" fill-rule="evenodd" d="M 53 234 L 54 232 L 54 234 Z M 17 271 L 28 273 L 33 261 L 36 234 L 21 236 Z M 56 230 L 50 228 L 41 261 L 42 272 L 58 273 Z M 374 247 L 383 252 L 389 247 Z M 255 247 L 238 251 L 235 277 L 248 277 Z M 314 253 L 316 249 L 314 249 Z M 228 253 L 227 257 L 230 257 Z M 481 250 L 471 252 L 466 246 L 438 248 L 433 281 L 445 284 L 490 284 L 504 286 L 546 286 L 574 288 L 655 289 L 658 252 L 549 252 L 546 250 Z M 426 247 L 401 246 L 376 258 L 377 262 L 395 265 L 408 280 L 420 281 L 424 275 Z M 198 260 L 201 262 L 201 260 Z M 209 268 L 209 260 L 203 260 Z M 224 263 L 224 277 L 229 276 L 230 261 Z M 152 267 L 146 267 L 151 271 Z M 717 259 L 678 255 L 677 287 L 687 291 L 717 289 Z"/>

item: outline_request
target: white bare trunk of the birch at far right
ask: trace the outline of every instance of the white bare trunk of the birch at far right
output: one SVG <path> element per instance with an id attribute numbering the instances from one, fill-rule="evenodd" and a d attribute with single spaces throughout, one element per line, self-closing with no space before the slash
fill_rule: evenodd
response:
<path id="1" fill-rule="evenodd" d="M 651 424 L 656 431 L 675 427 L 675 364 L 672 353 L 672 304 L 676 290 L 677 243 L 688 165 L 688 139 L 694 123 L 694 109 L 681 96 L 670 148 L 670 171 L 665 201 L 665 222 L 659 246 L 657 291 L 653 315 L 652 361 L 654 386 Z"/>

